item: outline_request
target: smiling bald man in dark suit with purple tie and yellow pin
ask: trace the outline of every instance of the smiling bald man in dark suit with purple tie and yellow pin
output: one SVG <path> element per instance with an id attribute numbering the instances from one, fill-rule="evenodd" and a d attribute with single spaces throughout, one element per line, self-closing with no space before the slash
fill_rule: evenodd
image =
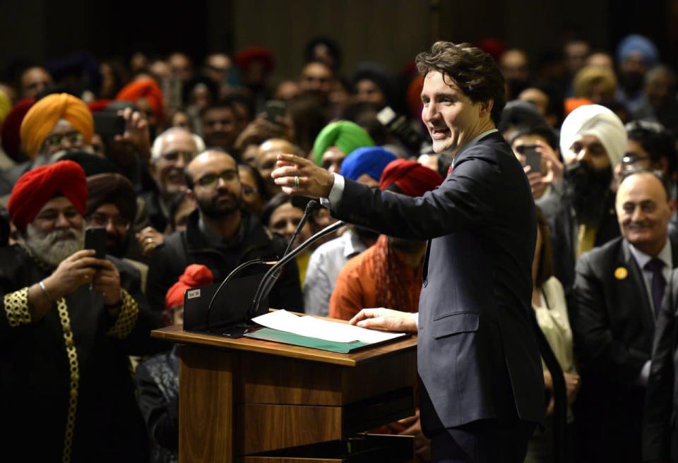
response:
<path id="1" fill-rule="evenodd" d="M 577 261 L 570 323 L 581 373 L 574 404 L 578 462 L 640 462 L 655 320 L 678 242 L 674 210 L 653 172 L 628 174 L 616 200 L 622 237 Z"/>

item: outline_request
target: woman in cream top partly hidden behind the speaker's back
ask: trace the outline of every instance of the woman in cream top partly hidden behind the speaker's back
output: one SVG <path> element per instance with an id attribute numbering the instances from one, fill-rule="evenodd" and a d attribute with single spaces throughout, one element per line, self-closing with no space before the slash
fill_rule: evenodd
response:
<path id="1" fill-rule="evenodd" d="M 567 388 L 567 431 L 566 448 L 571 461 L 572 450 L 572 422 L 574 420 L 571 406 L 576 399 L 580 386 L 580 378 L 574 365 L 572 346 L 572 330 L 567 316 L 567 303 L 563 285 L 553 276 L 553 253 L 551 248 L 551 234 L 541 210 L 537 208 L 537 243 L 535 258 L 532 264 L 533 291 L 532 308 L 537 317 L 537 324 L 544 333 L 549 347 L 560 364 Z M 546 463 L 553 459 L 553 379 L 542 360 L 544 369 L 544 383 L 546 385 L 549 402 L 546 410 L 546 426 L 543 431 L 537 429 L 528 444 L 528 455 L 525 463 Z"/>

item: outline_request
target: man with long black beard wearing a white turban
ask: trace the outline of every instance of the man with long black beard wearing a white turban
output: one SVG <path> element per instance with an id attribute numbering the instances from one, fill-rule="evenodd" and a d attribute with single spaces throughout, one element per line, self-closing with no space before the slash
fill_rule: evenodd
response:
<path id="1" fill-rule="evenodd" d="M 578 107 L 563 122 L 560 150 L 564 183 L 542 210 L 552 230 L 555 276 L 566 294 L 576 258 L 619 236 L 612 172 L 626 150 L 626 131 L 612 111 L 598 104 Z"/>

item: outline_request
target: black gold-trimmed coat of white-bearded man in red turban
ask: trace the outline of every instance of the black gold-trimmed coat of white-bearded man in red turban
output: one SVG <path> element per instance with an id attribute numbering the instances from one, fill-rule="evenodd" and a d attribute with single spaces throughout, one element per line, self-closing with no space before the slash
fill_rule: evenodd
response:
<path id="1" fill-rule="evenodd" d="M 19 246 L 0 248 L 1 441 L 7 455 L 25 462 L 61 461 L 66 419 L 77 379 L 73 462 L 143 462 L 146 439 L 134 398 L 128 355 L 167 348 L 150 337 L 160 327 L 139 288 L 138 270 L 108 257 L 120 272 L 121 287 L 138 312 L 124 308 L 112 320 L 102 296 L 88 285 L 66 296 L 75 355 L 69 351 L 59 308 L 42 320 L 20 320 L 14 296 L 49 275 Z M 18 291 L 18 292 L 17 292 Z M 77 370 L 75 376 L 73 371 Z"/>

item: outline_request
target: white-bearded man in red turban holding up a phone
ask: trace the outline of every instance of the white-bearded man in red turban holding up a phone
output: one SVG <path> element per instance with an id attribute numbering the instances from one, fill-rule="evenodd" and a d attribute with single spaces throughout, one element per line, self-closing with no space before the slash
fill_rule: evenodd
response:
<path id="1" fill-rule="evenodd" d="M 145 461 L 130 354 L 162 348 L 138 270 L 83 249 L 85 172 L 75 162 L 18 179 L 0 248 L 4 442 L 23 461 Z"/>

